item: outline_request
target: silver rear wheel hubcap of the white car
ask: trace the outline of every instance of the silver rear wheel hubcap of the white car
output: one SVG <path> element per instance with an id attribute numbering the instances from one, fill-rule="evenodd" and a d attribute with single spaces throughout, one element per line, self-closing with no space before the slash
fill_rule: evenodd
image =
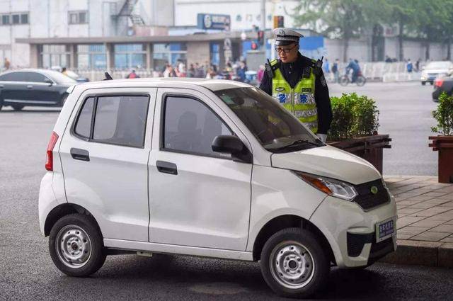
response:
<path id="1" fill-rule="evenodd" d="M 55 248 L 60 261 L 70 268 L 85 266 L 91 257 L 90 237 L 76 225 L 67 225 L 59 230 Z"/>

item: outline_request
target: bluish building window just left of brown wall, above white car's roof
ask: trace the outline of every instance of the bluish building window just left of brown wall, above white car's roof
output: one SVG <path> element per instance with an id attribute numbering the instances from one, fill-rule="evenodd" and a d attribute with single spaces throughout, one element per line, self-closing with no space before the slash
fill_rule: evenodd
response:
<path id="1" fill-rule="evenodd" d="M 186 63 L 187 47 L 185 43 L 168 43 L 153 45 L 153 65 L 156 71 L 163 71 L 169 62 L 176 66 L 178 59 Z M 201 63 L 201 62 L 200 62 Z"/>

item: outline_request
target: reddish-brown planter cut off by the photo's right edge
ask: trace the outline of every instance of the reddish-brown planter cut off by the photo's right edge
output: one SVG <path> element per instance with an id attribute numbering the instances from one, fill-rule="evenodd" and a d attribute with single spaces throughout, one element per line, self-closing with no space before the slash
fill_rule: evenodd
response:
<path id="1" fill-rule="evenodd" d="M 453 136 L 430 136 L 433 151 L 439 151 L 439 183 L 453 183 Z"/>

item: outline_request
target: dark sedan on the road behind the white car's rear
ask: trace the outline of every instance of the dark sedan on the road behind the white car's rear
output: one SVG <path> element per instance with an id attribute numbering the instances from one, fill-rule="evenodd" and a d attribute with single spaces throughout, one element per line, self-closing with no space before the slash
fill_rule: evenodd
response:
<path id="1" fill-rule="evenodd" d="M 67 90 L 77 81 L 53 70 L 21 69 L 0 74 L 0 109 L 12 106 L 63 106 Z"/>

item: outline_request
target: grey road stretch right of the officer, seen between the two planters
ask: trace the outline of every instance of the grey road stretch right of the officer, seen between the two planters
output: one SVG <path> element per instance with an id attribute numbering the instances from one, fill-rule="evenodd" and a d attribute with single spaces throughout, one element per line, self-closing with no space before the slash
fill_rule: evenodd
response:
<path id="1" fill-rule="evenodd" d="M 332 84 L 331 95 L 357 92 L 377 101 L 380 111 L 379 133 L 390 134 L 391 149 L 384 149 L 384 174 L 437 176 L 437 152 L 428 147 L 430 128 L 435 119 L 431 111 L 432 86 L 419 82 L 369 83 L 363 87 Z"/>

